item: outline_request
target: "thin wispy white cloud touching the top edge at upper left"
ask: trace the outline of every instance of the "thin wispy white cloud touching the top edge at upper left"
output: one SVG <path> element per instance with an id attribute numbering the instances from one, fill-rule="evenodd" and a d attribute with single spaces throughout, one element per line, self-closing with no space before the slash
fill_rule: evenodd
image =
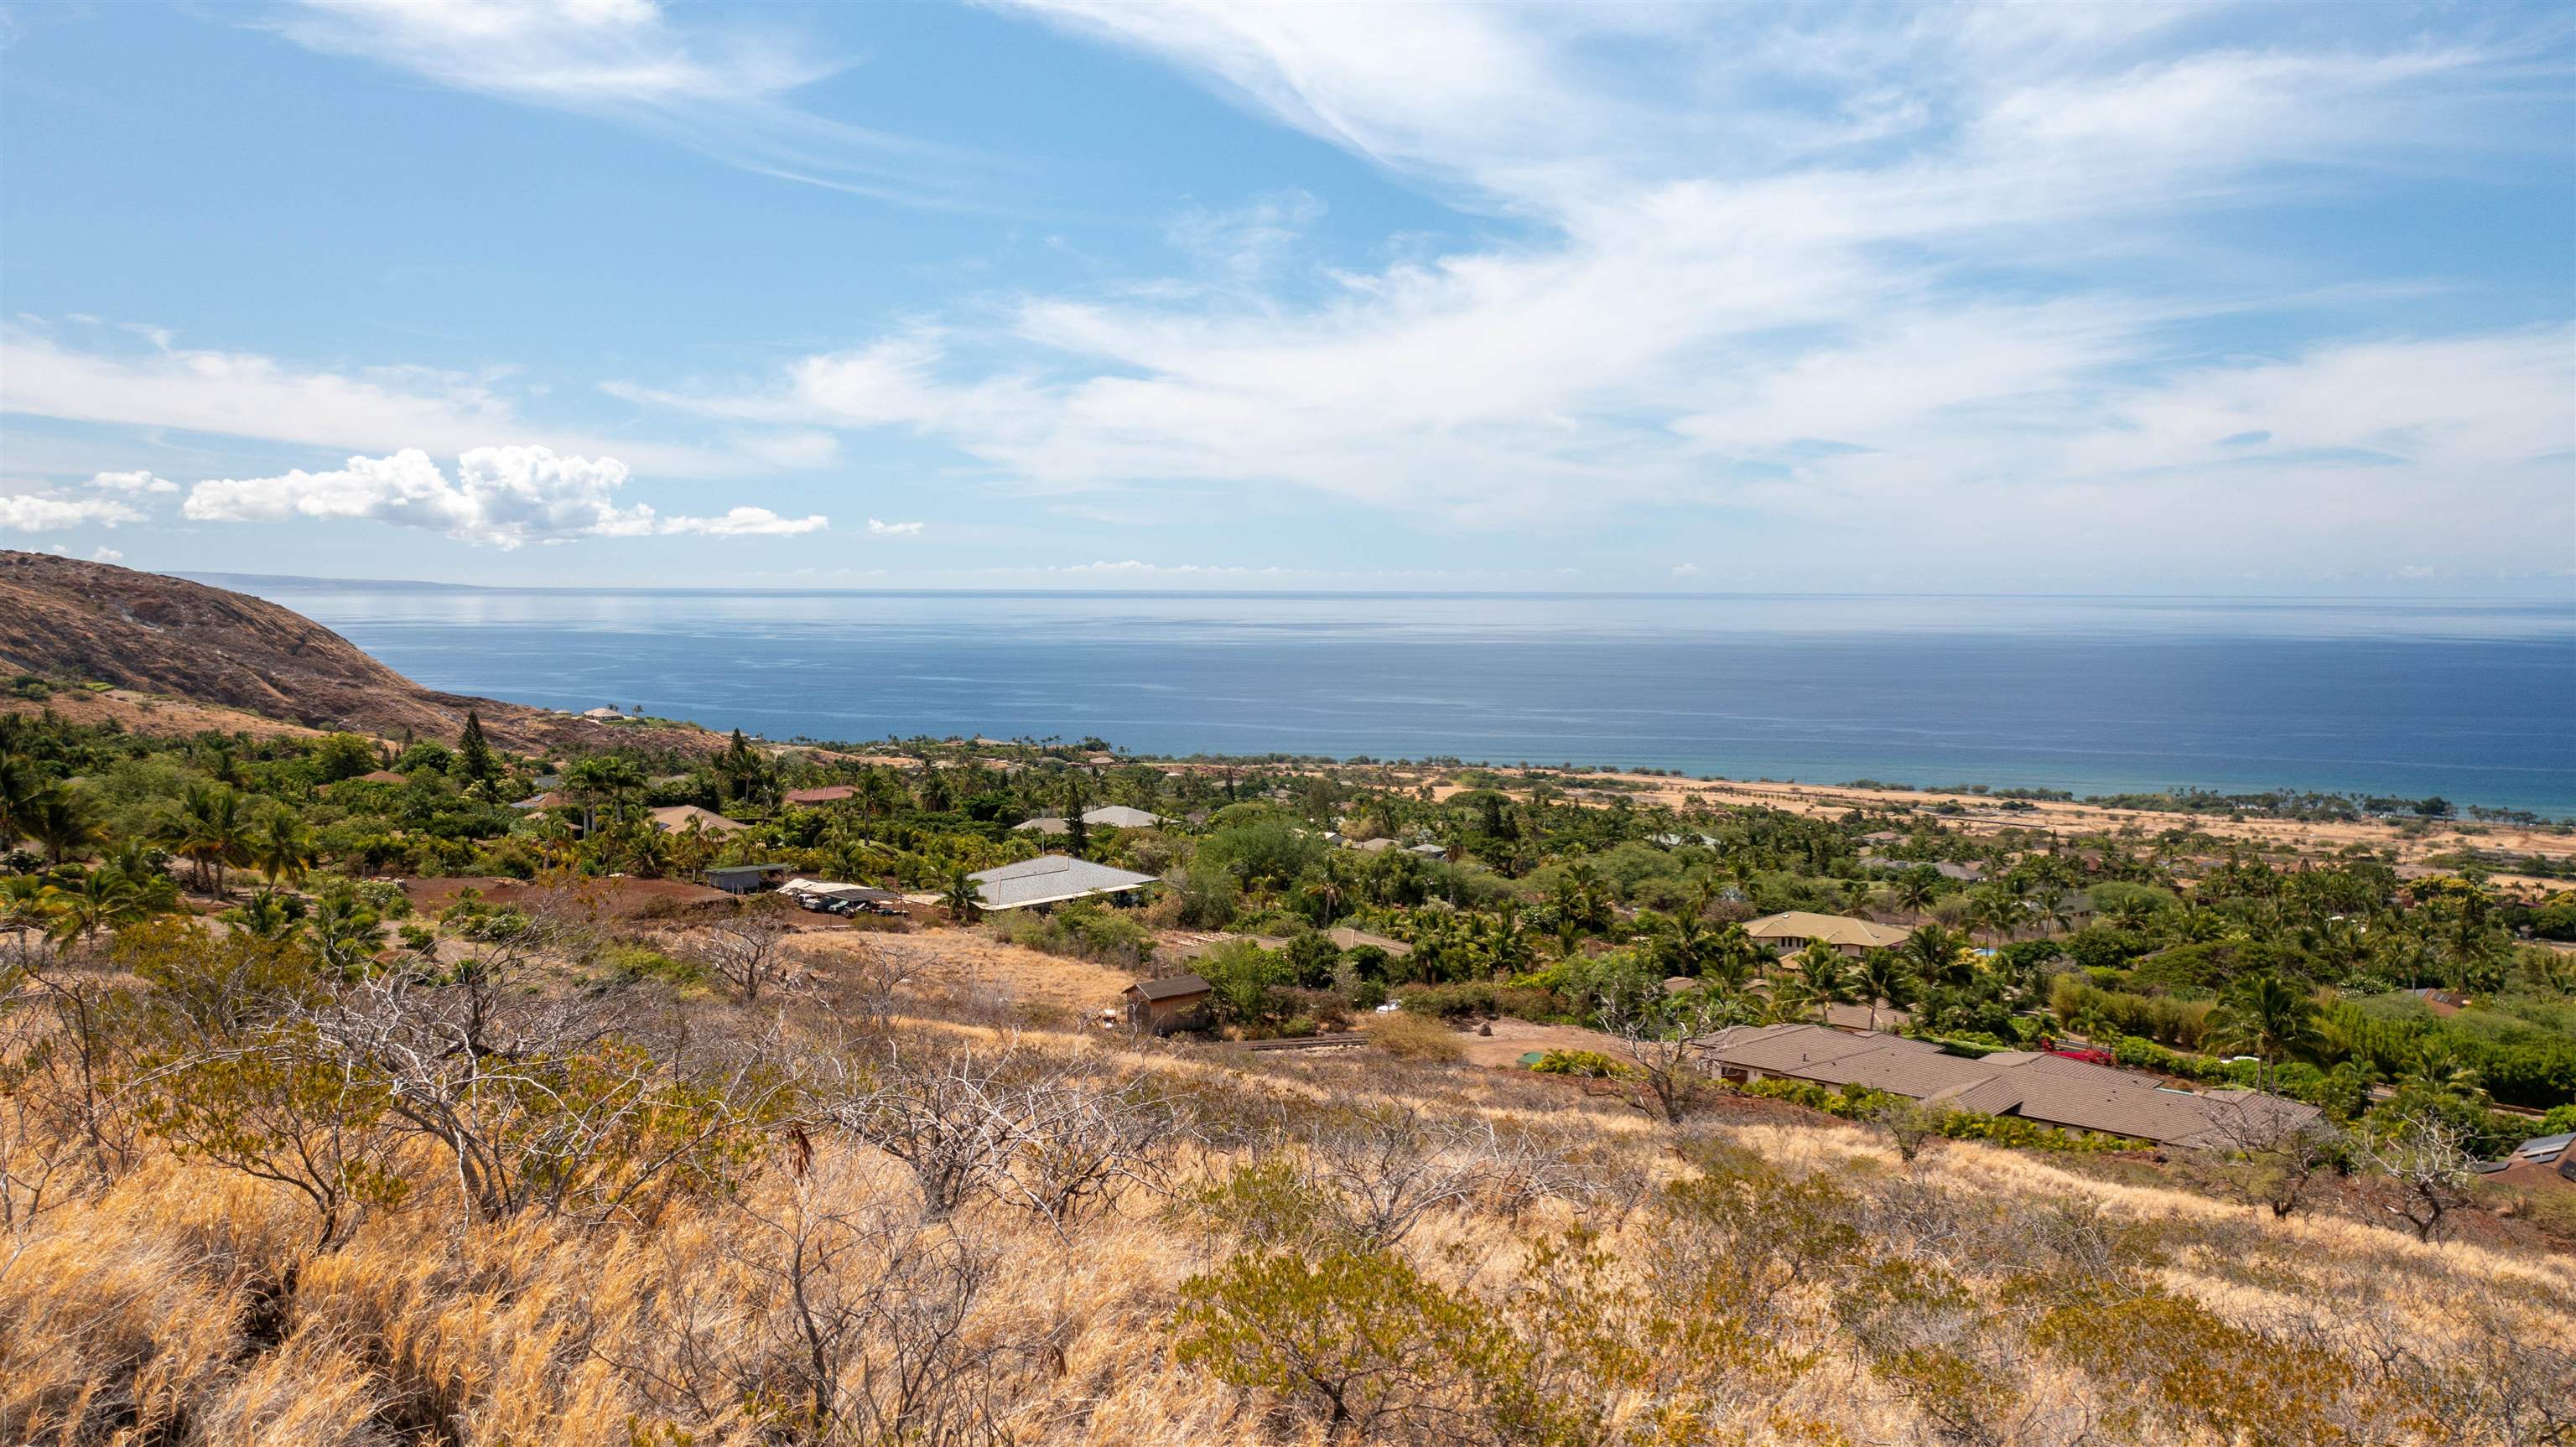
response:
<path id="1" fill-rule="evenodd" d="M 981 162 L 829 121 L 788 95 L 842 70 L 801 36 L 652 0 L 296 0 L 263 21 L 325 54 L 598 116 L 729 165 L 912 203 L 961 203 Z"/>

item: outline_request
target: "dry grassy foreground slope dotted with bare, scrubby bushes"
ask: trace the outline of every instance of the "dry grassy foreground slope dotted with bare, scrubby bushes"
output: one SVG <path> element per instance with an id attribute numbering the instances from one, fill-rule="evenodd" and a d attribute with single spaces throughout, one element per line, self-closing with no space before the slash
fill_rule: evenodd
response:
<path id="1" fill-rule="evenodd" d="M 796 1107 L 616 1208 L 474 1210 L 407 1138 L 407 1190 L 317 1246 L 286 1184 L 129 1130 L 149 1081 L 80 1117 L 129 1141 L 88 1172 L 13 1079 L 0 1439 L 2540 1444 L 2576 1416 L 2576 1259 L 2509 1226 L 2424 1244 L 2143 1164 L 1904 1161 L 1780 1102 L 1674 1130 L 1605 1081 L 1028 1027 L 1126 976 L 966 932 L 796 950 L 804 984 L 688 1030 L 701 1063 L 757 1043 Z M 1097 1190 L 1051 1197 L 1069 1161 Z"/>

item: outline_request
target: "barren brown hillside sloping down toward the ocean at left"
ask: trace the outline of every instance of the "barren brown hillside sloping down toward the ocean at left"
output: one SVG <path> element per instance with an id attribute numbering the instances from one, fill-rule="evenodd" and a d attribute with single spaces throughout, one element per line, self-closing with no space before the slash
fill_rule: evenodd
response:
<path id="1" fill-rule="evenodd" d="M 376 736 L 453 736 L 466 708 L 495 744 L 526 752 L 631 744 L 631 726 L 564 718 L 520 703 L 435 693 L 358 651 L 330 628 L 242 592 L 149 572 L 0 551 L 0 664 L 59 682 L 108 682 L 131 695 L 258 713 L 309 729 Z M 224 718 L 126 700 L 126 726 L 229 729 Z M 118 708 L 116 698 L 90 703 Z M 131 713 L 131 716 L 126 716 Z M 173 729 L 157 729 L 170 724 Z M 657 729 L 657 747 L 714 749 L 696 729 Z"/>

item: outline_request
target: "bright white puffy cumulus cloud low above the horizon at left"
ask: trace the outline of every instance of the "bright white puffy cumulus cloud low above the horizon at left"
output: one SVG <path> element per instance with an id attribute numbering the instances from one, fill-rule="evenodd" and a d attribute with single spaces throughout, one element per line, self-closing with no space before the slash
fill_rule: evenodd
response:
<path id="1" fill-rule="evenodd" d="M 626 476 L 618 458 L 474 448 L 456 458 L 451 481 L 428 453 L 404 448 L 384 458 L 348 458 L 337 471 L 198 481 L 180 512 L 196 523 L 363 518 L 495 548 L 649 533 L 809 533 L 824 525 L 819 515 L 786 520 L 765 507 L 734 507 L 724 518 L 654 518 L 641 502 L 618 507 Z"/>

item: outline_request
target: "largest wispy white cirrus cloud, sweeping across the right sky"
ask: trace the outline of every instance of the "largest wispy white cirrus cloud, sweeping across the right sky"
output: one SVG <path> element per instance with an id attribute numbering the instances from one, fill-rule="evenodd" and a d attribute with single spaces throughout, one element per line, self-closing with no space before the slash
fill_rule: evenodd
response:
<path id="1" fill-rule="evenodd" d="M 1324 270 L 1293 206 L 1185 219 L 1198 252 L 1247 257 L 1216 268 L 1229 286 L 1025 294 L 999 324 L 621 394 L 912 430 L 1030 492 L 1291 487 L 1512 528 L 1685 507 L 1886 556 L 2411 551 L 2372 520 L 2429 492 L 2473 494 L 2442 525 L 2473 548 L 2496 518 L 2571 510 L 2566 327 L 2282 324 L 2385 278 L 2334 247 L 2239 252 L 2223 227 L 2535 134 L 2496 121 L 2530 121 L 2548 33 L 2262 33 L 2197 8 L 1020 10 L 1504 229 Z M 1306 286 L 1270 286 L 1280 268 Z M 2275 340 L 2215 345 L 2218 319 Z M 2259 430 L 2257 456 L 2228 443 Z"/>

